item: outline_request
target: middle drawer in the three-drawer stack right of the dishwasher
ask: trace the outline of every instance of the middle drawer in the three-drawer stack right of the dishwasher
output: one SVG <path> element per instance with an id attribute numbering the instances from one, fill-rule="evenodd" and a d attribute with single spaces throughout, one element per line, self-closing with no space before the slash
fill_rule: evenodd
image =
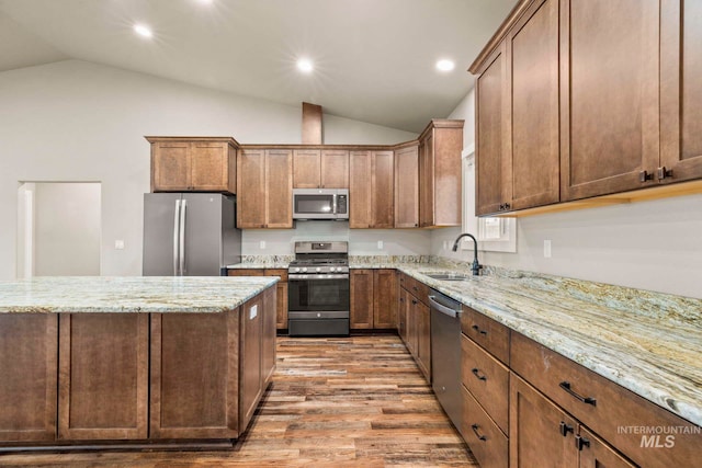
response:
<path id="1" fill-rule="evenodd" d="M 461 335 L 461 379 L 505 434 L 509 432 L 509 369 Z"/>

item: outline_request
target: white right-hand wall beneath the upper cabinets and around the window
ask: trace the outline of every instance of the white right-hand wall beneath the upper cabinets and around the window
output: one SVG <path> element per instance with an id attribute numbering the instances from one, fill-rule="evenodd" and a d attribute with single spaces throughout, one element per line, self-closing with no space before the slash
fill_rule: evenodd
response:
<path id="1" fill-rule="evenodd" d="M 473 92 L 466 96 L 475 101 Z M 450 118 L 474 118 L 464 100 Z M 474 121 L 473 121 L 474 122 Z M 473 126 L 473 125 L 472 125 Z M 474 141 L 466 136 L 464 146 Z M 466 187 L 472 191 L 473 187 Z M 474 197 L 468 201 L 475 213 Z M 444 251 L 460 229 L 432 232 L 432 253 Z M 552 241 L 552 258 L 543 241 Z M 483 252 L 485 264 L 702 298 L 702 195 L 519 218 L 517 253 Z"/>

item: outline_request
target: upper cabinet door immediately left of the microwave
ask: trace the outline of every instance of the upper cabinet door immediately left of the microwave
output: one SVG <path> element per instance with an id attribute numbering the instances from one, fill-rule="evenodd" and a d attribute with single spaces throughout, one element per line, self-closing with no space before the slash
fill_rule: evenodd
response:
<path id="1" fill-rule="evenodd" d="M 293 155 L 292 151 L 265 151 L 267 228 L 293 227 Z"/>

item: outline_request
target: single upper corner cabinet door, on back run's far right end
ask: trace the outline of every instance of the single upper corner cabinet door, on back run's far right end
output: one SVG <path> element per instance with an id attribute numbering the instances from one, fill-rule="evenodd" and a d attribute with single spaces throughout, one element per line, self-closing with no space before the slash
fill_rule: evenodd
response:
<path id="1" fill-rule="evenodd" d="M 419 227 L 419 146 L 395 151 L 395 227 Z"/>

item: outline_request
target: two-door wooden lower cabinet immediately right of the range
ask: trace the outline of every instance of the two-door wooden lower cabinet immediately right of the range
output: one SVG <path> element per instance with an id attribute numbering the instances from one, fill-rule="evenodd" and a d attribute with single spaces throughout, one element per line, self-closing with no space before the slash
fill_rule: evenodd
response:
<path id="1" fill-rule="evenodd" d="M 397 328 L 397 272 L 352 269 L 351 329 Z"/>

